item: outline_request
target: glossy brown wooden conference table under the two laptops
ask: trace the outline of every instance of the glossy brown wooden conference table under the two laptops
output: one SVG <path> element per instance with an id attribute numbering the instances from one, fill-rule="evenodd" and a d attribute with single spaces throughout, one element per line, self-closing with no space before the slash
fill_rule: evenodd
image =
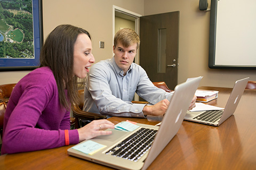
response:
<path id="1" fill-rule="evenodd" d="M 209 104 L 225 107 L 232 89 L 218 90 Z M 148 169 L 256 169 L 256 90 L 245 90 L 236 112 L 219 127 L 183 121 L 177 135 Z M 155 125 L 162 117 L 111 117 Z M 0 169 L 111 169 L 69 156 L 71 146 L 0 156 Z"/>

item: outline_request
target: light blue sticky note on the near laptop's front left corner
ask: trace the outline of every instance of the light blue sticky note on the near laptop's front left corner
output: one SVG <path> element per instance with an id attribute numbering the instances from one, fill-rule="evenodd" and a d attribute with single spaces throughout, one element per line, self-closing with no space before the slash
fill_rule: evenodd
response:
<path id="1" fill-rule="evenodd" d="M 91 140 L 88 140 L 86 142 L 83 142 L 79 145 L 76 145 L 74 147 L 72 147 L 73 149 L 76 149 L 78 151 L 83 152 L 84 154 L 87 155 L 93 155 L 95 152 L 105 148 L 107 146 L 105 145 L 101 145 L 100 143 L 97 142 L 93 142 Z"/>

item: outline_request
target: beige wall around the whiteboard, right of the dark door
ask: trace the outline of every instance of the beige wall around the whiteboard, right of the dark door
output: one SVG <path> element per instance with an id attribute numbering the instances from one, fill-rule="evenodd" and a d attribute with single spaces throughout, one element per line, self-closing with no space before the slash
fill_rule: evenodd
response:
<path id="1" fill-rule="evenodd" d="M 255 81 L 255 70 L 209 69 L 210 11 L 199 11 L 198 5 L 198 0 L 145 0 L 145 15 L 180 11 L 178 82 L 199 75 L 204 77 L 200 86 L 233 87 L 245 77 Z"/>

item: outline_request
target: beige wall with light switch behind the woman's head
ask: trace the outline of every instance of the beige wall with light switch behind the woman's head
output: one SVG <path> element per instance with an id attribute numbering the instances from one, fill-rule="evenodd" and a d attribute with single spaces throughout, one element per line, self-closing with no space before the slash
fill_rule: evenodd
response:
<path id="1" fill-rule="evenodd" d="M 113 55 L 113 5 L 143 15 L 144 0 L 43 0 L 44 39 L 59 24 L 73 24 L 90 32 L 95 62 Z M 105 41 L 105 48 L 99 48 Z M 0 72 L 0 84 L 16 83 L 29 71 Z"/>

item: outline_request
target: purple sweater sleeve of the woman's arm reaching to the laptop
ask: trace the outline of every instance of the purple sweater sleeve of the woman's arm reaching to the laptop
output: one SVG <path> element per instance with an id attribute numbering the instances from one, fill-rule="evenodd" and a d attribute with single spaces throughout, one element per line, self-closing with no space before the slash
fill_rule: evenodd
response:
<path id="1" fill-rule="evenodd" d="M 15 108 L 8 117 L 3 137 L 3 153 L 26 152 L 65 146 L 65 131 L 68 115 L 61 123 L 61 129 L 39 129 L 37 122 L 51 95 L 45 89 L 30 88 L 23 92 L 17 104 L 9 100 L 7 109 Z M 6 109 L 6 112 L 7 112 Z M 55 114 L 58 117 L 57 113 Z M 54 116 L 54 113 L 52 113 Z M 49 121 L 55 117 L 49 117 Z M 47 120 L 47 119 L 45 119 Z M 66 123 L 64 123 L 66 122 Z M 77 130 L 69 130 L 70 144 L 79 142 Z"/>

